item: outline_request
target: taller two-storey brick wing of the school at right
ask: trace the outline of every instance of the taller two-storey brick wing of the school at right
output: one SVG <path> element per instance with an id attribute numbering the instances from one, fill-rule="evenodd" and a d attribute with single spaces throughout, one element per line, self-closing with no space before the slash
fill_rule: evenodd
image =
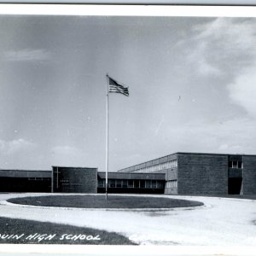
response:
<path id="1" fill-rule="evenodd" d="M 256 155 L 176 153 L 119 172 L 165 173 L 165 194 L 256 194 Z"/>

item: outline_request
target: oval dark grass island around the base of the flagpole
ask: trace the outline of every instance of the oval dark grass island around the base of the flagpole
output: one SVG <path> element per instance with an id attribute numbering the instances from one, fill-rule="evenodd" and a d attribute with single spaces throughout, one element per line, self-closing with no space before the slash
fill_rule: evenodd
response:
<path id="1" fill-rule="evenodd" d="M 46 195 L 12 198 L 9 202 L 21 205 L 44 207 L 77 207 L 77 208 L 174 208 L 198 207 L 203 203 L 161 197 L 108 195 Z"/>

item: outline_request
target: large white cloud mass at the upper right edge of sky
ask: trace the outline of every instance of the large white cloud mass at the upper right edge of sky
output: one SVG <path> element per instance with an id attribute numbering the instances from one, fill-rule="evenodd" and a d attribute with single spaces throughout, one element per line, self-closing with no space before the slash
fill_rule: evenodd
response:
<path id="1" fill-rule="evenodd" d="M 196 61 L 201 74 L 226 73 L 230 101 L 256 118 L 256 20 L 218 18 L 195 26 Z M 197 59 L 196 59 L 197 58 Z M 203 67 L 203 68 L 201 68 Z"/>

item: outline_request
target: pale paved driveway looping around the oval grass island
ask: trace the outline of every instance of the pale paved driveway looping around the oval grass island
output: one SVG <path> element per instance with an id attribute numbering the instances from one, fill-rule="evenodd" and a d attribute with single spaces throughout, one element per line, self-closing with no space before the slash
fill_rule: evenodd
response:
<path id="1" fill-rule="evenodd" d="M 252 200 L 168 195 L 202 201 L 205 206 L 164 212 L 5 204 L 8 198 L 27 195 L 38 194 L 1 194 L 0 216 L 114 231 L 141 244 L 214 247 L 256 245 L 256 201 Z"/>

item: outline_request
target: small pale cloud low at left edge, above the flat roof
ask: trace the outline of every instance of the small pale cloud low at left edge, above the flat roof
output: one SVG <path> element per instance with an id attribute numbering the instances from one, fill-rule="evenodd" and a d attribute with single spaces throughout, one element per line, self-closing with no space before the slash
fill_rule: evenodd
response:
<path id="1" fill-rule="evenodd" d="M 10 155 L 34 148 L 35 144 L 19 138 L 13 141 L 0 140 L 0 154 Z"/>

